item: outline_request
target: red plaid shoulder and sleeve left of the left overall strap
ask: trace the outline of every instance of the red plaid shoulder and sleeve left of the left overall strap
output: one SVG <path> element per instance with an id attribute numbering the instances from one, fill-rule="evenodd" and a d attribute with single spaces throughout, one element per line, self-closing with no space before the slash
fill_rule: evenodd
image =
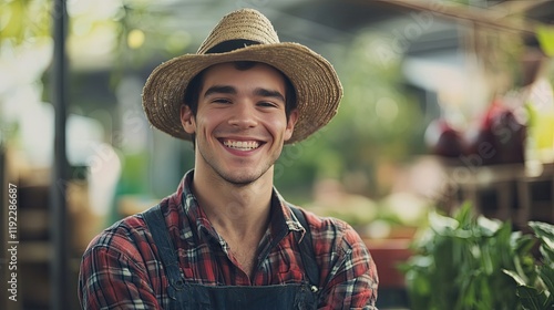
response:
<path id="1" fill-rule="evenodd" d="M 160 308 L 166 283 L 142 216 L 123 218 L 101 231 L 83 254 L 79 294 L 84 308 Z"/>

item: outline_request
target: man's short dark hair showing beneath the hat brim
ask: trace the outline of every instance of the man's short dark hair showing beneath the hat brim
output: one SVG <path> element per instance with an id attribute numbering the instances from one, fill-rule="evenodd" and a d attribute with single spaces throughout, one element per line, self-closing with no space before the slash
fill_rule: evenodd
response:
<path id="1" fill-rule="evenodd" d="M 255 61 L 235 61 L 234 65 L 236 70 L 240 71 L 246 71 L 252 68 L 254 68 L 258 62 Z M 198 97 L 199 97 L 199 92 L 202 89 L 202 83 L 204 72 L 206 72 L 207 69 L 204 69 L 201 71 L 201 73 L 196 74 L 193 80 L 188 83 L 188 86 L 185 90 L 185 97 L 184 97 L 184 104 L 187 104 L 191 107 L 191 112 L 193 113 L 194 116 L 196 116 L 196 112 L 198 111 Z M 280 72 L 280 71 L 279 71 Z M 290 112 L 296 108 L 297 106 L 297 101 L 296 101 L 296 91 L 295 86 L 290 82 L 290 80 L 285 75 L 283 72 L 280 72 L 285 80 L 285 115 L 287 116 L 287 122 L 288 117 L 290 116 Z M 193 137 L 194 141 L 194 137 Z"/>

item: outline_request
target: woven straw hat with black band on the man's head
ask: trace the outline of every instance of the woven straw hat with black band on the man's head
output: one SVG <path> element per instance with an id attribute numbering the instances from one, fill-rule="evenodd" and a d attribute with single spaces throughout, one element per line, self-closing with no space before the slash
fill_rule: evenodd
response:
<path id="1" fill-rule="evenodd" d="M 154 69 L 142 94 L 151 124 L 174 137 L 191 140 L 179 118 L 188 83 L 204 69 L 232 61 L 263 62 L 288 76 L 296 89 L 299 112 L 288 144 L 305 140 L 337 114 L 342 86 L 332 65 L 301 44 L 279 42 L 265 16 L 240 9 L 219 21 L 196 54 L 174 58 Z"/>

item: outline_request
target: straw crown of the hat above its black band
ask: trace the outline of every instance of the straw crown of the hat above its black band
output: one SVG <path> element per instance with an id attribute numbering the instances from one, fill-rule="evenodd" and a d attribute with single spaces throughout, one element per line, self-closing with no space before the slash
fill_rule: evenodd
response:
<path id="1" fill-rule="evenodd" d="M 254 41 L 260 44 L 279 43 L 271 22 L 253 9 L 240 9 L 225 16 L 204 40 L 197 53 L 205 54 L 214 46 L 235 40 Z"/>

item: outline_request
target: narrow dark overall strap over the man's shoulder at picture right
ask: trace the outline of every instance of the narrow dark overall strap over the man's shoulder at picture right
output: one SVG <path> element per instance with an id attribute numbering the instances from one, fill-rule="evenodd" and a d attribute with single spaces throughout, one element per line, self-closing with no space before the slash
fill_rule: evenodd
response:
<path id="1" fill-rule="evenodd" d="M 319 267 L 317 265 L 316 254 L 314 251 L 310 226 L 308 225 L 304 213 L 299 208 L 290 205 L 289 207 L 306 229 L 306 234 L 300 241 L 300 256 L 302 258 L 304 268 L 306 268 L 306 275 L 308 276 L 308 280 L 310 281 L 310 285 L 312 287 L 312 291 L 317 291 L 319 288 Z"/>

